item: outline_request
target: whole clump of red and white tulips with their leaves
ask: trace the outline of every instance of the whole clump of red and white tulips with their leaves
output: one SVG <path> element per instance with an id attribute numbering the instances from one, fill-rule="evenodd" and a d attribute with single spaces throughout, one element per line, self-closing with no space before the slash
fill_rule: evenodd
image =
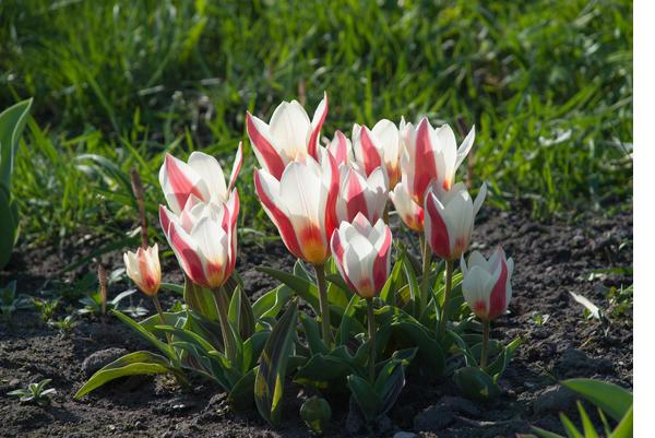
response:
<path id="1" fill-rule="evenodd" d="M 162 354 L 123 356 L 76 396 L 131 374 L 172 372 L 181 384 L 201 375 L 228 392 L 235 410 L 255 405 L 275 425 L 289 377 L 314 394 L 301 414 L 321 431 L 331 393 L 349 391 L 352 414 L 373 427 L 407 374 L 451 375 L 471 398 L 500 392 L 498 380 L 520 340 L 491 341 L 490 322 L 508 308 L 514 263 L 500 247 L 488 259 L 478 251 L 465 257 L 487 196 L 486 185 L 473 198 L 455 181 L 475 130 L 457 147 L 448 125 L 381 120 L 372 129 L 355 125 L 352 139 L 336 131 L 323 146 L 327 109 L 325 95 L 311 120 L 296 100 L 282 103 L 269 123 L 247 114 L 259 163 L 254 190 L 298 259 L 293 272 L 260 267 L 281 284 L 253 304 L 235 271 L 241 145 L 227 180 L 202 152 L 187 162 L 166 156 L 159 222 L 184 273 L 183 287 L 172 288 L 186 305 L 162 309 L 157 245 L 148 247 L 144 234 L 143 247 L 124 262 L 158 315 L 136 322 L 114 313 Z M 394 241 L 392 209 L 409 238 Z M 409 249 L 414 234 L 420 260 Z M 300 312 L 299 300 L 313 315 Z"/>

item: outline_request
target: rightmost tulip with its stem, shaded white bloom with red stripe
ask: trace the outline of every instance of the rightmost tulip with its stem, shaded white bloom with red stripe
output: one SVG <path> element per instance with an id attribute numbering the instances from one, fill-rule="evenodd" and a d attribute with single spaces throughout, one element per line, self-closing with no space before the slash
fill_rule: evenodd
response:
<path id="1" fill-rule="evenodd" d="M 507 259 L 503 249 L 498 247 L 489 260 L 480 252 L 473 251 L 468 264 L 462 258 L 460 265 L 464 275 L 464 299 L 483 321 L 480 367 L 484 368 L 487 365 L 490 321 L 505 312 L 512 298 L 510 280 L 514 272 L 514 260 Z"/>

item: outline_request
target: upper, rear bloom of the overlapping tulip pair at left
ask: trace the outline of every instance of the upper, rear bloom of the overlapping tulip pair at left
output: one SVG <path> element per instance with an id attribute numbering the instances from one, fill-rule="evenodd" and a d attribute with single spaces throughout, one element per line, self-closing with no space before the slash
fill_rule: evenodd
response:
<path id="1" fill-rule="evenodd" d="M 202 202 L 227 202 L 243 159 L 241 143 L 235 156 L 228 184 L 218 161 L 203 152 L 192 152 L 188 163 L 166 154 L 159 169 L 159 185 L 166 202 L 175 214 L 179 214 L 191 194 Z M 165 229 L 166 232 L 166 229 Z"/>

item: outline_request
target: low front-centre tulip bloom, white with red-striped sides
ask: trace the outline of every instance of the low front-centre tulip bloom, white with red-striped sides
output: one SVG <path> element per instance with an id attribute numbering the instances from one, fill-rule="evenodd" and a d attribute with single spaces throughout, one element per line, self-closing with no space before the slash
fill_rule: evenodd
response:
<path id="1" fill-rule="evenodd" d="M 391 228 L 381 218 L 371 223 L 360 213 L 342 222 L 332 235 L 332 253 L 348 287 L 362 298 L 378 295 L 391 263 Z"/>

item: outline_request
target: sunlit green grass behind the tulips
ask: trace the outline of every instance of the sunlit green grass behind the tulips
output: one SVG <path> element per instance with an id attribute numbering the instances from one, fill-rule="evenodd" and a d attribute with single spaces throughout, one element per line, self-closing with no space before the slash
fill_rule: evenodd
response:
<path id="1" fill-rule="evenodd" d="M 35 97 L 15 175 L 28 241 L 124 236 L 131 167 L 154 221 L 165 151 L 231 162 L 246 109 L 300 95 L 313 111 L 323 90 L 329 135 L 475 122 L 474 182 L 496 205 L 631 202 L 630 1 L 5 0 L 0 24 L 0 104 Z M 261 228 L 246 153 L 241 220 Z"/>

